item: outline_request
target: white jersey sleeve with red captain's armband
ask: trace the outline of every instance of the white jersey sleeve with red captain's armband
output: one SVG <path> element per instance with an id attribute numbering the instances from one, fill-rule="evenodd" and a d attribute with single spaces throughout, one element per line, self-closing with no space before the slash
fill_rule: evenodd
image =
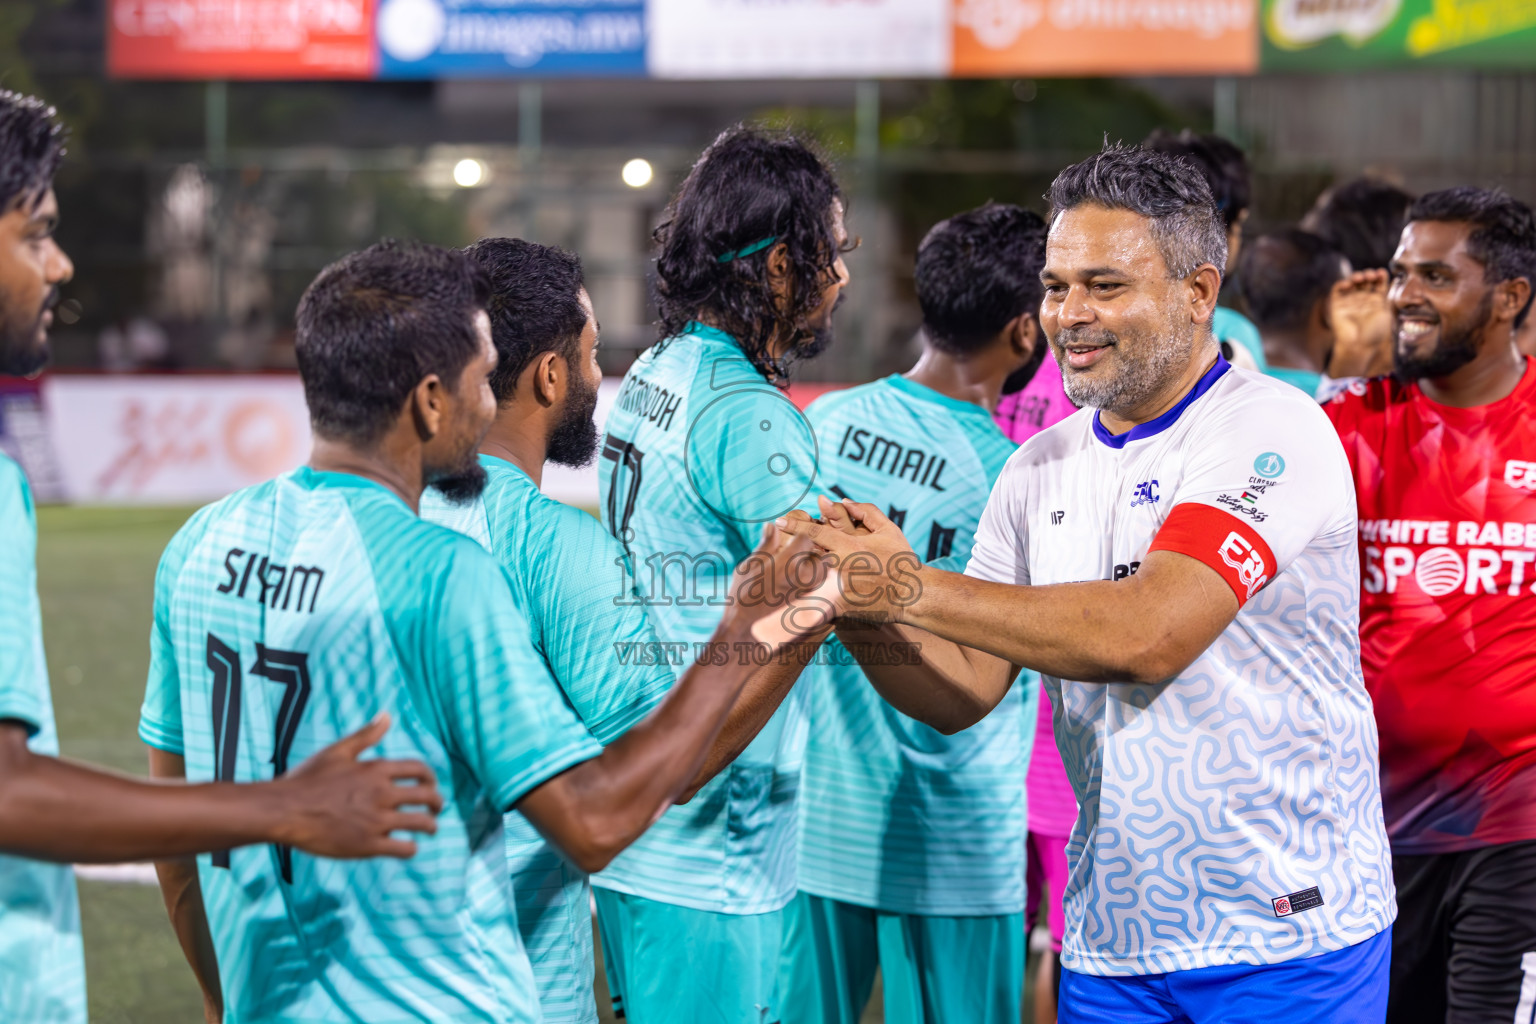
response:
<path id="1" fill-rule="evenodd" d="M 1230 408 L 1190 453 L 1149 551 L 1204 562 L 1241 606 L 1350 519 L 1355 488 L 1319 407 L 1261 395 Z"/>

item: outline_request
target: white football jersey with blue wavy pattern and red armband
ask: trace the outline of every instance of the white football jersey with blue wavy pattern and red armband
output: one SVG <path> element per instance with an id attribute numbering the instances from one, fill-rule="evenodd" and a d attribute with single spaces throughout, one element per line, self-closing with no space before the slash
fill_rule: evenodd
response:
<path id="1" fill-rule="evenodd" d="M 1224 359 L 1129 433 L 1083 410 L 1009 459 L 966 573 L 1118 580 L 1160 548 L 1217 570 L 1241 609 L 1164 683 L 1044 677 L 1080 804 L 1063 966 L 1272 964 L 1376 935 L 1396 898 L 1355 485 L 1322 410 Z"/>

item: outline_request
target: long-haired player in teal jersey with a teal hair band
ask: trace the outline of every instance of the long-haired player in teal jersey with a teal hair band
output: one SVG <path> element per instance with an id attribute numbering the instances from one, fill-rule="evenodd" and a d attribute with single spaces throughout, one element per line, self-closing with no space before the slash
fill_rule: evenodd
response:
<path id="1" fill-rule="evenodd" d="M 762 524 L 814 508 L 816 441 L 776 385 L 829 341 L 848 243 L 828 167 L 793 138 L 740 127 L 703 152 L 657 238 L 662 341 L 624 378 L 599 482 L 656 636 L 691 645 L 714 629 Z M 633 1024 L 779 1019 L 805 731 L 797 688 L 691 803 L 593 878 L 610 990 Z"/>

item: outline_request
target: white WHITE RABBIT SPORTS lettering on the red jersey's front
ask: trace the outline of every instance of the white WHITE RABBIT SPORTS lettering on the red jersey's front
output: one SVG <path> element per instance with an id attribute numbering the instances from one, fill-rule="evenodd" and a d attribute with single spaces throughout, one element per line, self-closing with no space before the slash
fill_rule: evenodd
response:
<path id="1" fill-rule="evenodd" d="M 1536 522 L 1361 519 L 1359 539 L 1367 594 L 1536 594 Z"/>

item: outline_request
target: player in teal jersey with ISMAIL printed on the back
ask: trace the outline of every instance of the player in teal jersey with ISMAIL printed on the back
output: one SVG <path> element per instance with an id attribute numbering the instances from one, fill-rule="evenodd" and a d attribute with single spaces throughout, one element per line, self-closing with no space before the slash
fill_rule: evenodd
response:
<path id="1" fill-rule="evenodd" d="M 935 226 L 917 250 L 917 365 L 806 410 L 819 488 L 886 510 L 928 562 L 965 565 L 1014 451 L 992 410 L 1046 353 L 1035 321 L 1044 238 L 1044 221 L 1017 206 Z M 943 735 L 885 703 L 837 637 L 826 648 L 834 657 L 806 669 L 814 728 L 785 1019 L 857 1024 L 879 967 L 888 1024 L 1017 1024 L 1035 677 Z"/>

